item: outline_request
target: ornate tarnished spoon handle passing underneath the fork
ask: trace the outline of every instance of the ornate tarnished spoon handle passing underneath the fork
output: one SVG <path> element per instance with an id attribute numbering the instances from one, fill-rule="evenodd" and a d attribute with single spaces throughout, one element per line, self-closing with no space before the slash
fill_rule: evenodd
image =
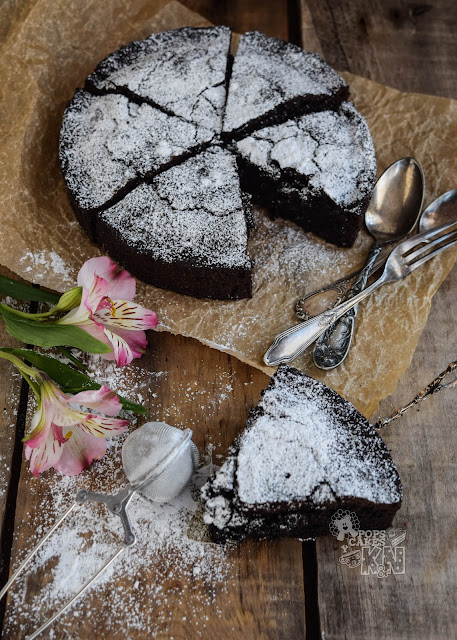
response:
<path id="1" fill-rule="evenodd" d="M 382 246 L 382 243 L 376 242 L 371 247 L 364 267 L 352 287 L 345 294 L 344 300 L 350 300 L 365 289 Z M 357 306 L 358 305 L 352 307 L 345 315 L 341 316 L 316 342 L 313 351 L 313 360 L 319 369 L 334 369 L 346 358 L 354 334 Z"/>

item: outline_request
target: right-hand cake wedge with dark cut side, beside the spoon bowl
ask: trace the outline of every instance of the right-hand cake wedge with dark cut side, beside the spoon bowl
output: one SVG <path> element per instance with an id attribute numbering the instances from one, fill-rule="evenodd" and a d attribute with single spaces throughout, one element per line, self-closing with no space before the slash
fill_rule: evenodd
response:
<path id="1" fill-rule="evenodd" d="M 334 244 L 353 245 L 376 178 L 368 125 L 351 102 L 253 132 L 235 143 L 242 187 Z"/>

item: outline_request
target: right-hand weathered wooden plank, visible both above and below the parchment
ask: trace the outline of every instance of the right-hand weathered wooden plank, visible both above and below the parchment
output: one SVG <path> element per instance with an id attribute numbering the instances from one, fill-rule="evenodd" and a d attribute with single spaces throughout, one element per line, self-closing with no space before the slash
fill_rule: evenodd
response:
<path id="1" fill-rule="evenodd" d="M 308 2 L 330 64 L 396 86 L 457 96 L 455 9 L 446 2 Z M 306 14 L 303 14 L 306 16 Z M 310 29 L 310 20 L 305 23 Z M 435 46 L 436 45 L 436 46 Z M 434 51 L 430 51 L 434 49 Z M 433 299 L 410 368 L 379 416 L 405 404 L 454 360 L 454 269 Z M 456 635 L 457 580 L 454 391 L 443 392 L 394 422 L 382 436 L 404 485 L 395 525 L 407 531 L 403 575 L 361 575 L 339 562 L 332 537 L 317 542 L 319 622 L 326 640 L 449 638 Z"/>

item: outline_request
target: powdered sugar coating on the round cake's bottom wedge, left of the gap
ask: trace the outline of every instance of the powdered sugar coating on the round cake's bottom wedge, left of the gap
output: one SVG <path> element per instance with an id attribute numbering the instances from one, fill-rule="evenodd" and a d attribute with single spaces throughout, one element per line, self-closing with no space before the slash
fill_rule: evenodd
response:
<path id="1" fill-rule="evenodd" d="M 219 147 L 140 185 L 99 220 L 155 260 L 250 270 L 235 159 Z"/>

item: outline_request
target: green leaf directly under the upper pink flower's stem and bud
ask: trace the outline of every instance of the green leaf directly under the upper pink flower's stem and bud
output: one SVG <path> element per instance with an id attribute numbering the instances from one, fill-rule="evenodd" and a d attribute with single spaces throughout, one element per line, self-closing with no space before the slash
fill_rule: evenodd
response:
<path id="1" fill-rule="evenodd" d="M 4 304 L 0 304 L 0 313 L 8 333 L 25 344 L 34 344 L 44 348 L 76 347 L 87 353 L 110 353 L 112 351 L 108 345 L 93 338 L 79 327 L 20 318 Z"/>

